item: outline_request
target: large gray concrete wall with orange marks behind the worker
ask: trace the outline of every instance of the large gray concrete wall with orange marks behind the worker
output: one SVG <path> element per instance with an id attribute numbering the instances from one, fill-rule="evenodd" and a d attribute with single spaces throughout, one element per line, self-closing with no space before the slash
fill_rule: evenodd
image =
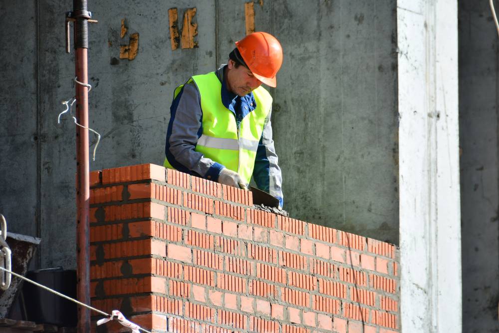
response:
<path id="1" fill-rule="evenodd" d="M 226 61 L 245 34 L 244 3 L 90 1 L 99 20 L 90 25 L 90 126 L 102 134 L 91 170 L 162 164 L 174 87 Z M 67 116 L 56 121 L 60 101 L 74 95 L 63 27 L 71 4 L 1 6 L 9 33 L 0 36 L 7 78 L 0 91 L 8 92 L 0 104 L 0 211 L 10 230 L 42 238 L 39 266 L 74 267 L 75 129 Z M 197 7 L 198 48 L 171 49 L 171 7 L 180 17 Z M 302 220 L 397 243 L 395 0 L 263 0 L 254 7 L 256 29 L 277 35 L 284 48 L 271 93 L 285 208 Z M 26 14 L 32 19 L 24 21 Z M 118 59 L 135 32 L 137 57 Z"/>

